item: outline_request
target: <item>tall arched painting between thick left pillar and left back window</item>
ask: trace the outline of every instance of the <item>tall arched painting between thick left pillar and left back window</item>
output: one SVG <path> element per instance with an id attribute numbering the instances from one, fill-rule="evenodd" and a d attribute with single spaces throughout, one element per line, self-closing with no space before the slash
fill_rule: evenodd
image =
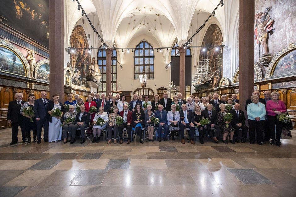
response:
<path id="1" fill-rule="evenodd" d="M 83 27 L 77 26 L 74 28 L 70 37 L 70 45 L 74 48 L 89 47 Z M 74 53 L 70 53 L 70 70 L 73 73 L 71 76 L 73 85 L 89 88 L 85 76 L 89 70 L 90 63 L 91 59 L 88 50 L 76 49 Z"/>

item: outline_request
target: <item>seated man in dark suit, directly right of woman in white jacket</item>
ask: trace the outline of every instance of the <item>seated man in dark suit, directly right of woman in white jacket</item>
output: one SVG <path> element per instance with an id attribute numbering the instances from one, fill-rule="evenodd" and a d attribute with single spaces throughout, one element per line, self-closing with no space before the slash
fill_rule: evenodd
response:
<path id="1" fill-rule="evenodd" d="M 185 144 L 184 140 L 184 129 L 190 128 L 190 143 L 195 144 L 193 141 L 195 127 L 194 127 L 194 116 L 191 110 L 187 110 L 186 104 L 182 104 L 182 109 L 179 111 L 180 114 L 180 134 L 181 142 Z"/>

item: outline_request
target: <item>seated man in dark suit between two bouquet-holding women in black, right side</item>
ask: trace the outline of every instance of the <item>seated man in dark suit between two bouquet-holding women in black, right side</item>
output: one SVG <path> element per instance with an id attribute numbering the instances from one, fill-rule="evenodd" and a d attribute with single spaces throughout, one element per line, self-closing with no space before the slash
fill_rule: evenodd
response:
<path id="1" fill-rule="evenodd" d="M 207 125 L 208 134 L 214 140 L 214 142 L 219 143 L 219 140 L 217 139 L 220 133 L 220 127 L 217 124 L 218 113 L 212 109 L 213 109 L 213 105 L 208 104 L 207 109 L 202 111 L 202 116 L 205 118 L 208 118 L 209 121 L 211 121 L 211 123 Z M 215 132 L 213 132 L 212 128 L 215 129 Z"/>

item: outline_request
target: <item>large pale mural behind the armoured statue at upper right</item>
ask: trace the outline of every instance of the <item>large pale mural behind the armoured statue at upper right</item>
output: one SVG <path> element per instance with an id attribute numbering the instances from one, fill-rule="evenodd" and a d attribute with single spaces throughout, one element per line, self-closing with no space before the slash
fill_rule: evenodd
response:
<path id="1" fill-rule="evenodd" d="M 296 40 L 296 2 L 295 0 L 255 0 L 255 13 L 264 12 L 270 8 L 268 14 L 274 20 L 273 30 L 268 35 L 268 50 L 271 55 L 279 52 L 285 46 Z M 254 39 L 255 60 L 259 59 L 258 45 Z M 261 46 L 262 52 L 262 46 Z"/>

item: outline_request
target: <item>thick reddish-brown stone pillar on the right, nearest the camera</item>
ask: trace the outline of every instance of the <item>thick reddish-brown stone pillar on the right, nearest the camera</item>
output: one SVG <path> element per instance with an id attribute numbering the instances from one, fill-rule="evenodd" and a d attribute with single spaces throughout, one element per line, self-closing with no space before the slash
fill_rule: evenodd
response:
<path id="1" fill-rule="evenodd" d="M 239 1 L 239 101 L 244 110 L 254 91 L 254 0 Z M 247 116 L 247 113 L 245 112 Z"/>

